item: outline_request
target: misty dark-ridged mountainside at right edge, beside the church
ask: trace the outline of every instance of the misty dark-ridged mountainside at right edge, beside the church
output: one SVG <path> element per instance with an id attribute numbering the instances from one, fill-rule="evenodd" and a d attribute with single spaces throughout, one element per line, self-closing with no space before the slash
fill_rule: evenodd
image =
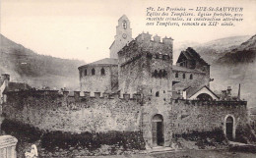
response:
<path id="1" fill-rule="evenodd" d="M 248 100 L 249 107 L 256 107 L 256 35 L 223 54 L 211 67 L 211 76 L 215 79 L 213 88 L 230 85 L 237 93 L 238 84 L 241 83 L 241 96 Z"/>

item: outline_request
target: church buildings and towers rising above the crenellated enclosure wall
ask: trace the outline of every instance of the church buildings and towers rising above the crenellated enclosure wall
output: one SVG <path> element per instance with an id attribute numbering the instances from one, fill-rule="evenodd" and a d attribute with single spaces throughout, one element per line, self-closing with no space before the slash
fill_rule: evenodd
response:
<path id="1" fill-rule="evenodd" d="M 149 32 L 132 38 L 130 21 L 118 20 L 110 58 L 79 67 L 81 91 L 100 93 L 143 93 L 171 98 L 209 97 L 210 65 L 192 48 L 180 53 L 173 65 L 173 39 Z M 204 95 L 195 95 L 203 91 Z"/>

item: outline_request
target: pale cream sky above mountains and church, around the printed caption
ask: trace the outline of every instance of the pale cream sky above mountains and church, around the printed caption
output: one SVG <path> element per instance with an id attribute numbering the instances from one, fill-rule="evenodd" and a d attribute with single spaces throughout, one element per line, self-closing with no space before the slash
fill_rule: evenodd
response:
<path id="1" fill-rule="evenodd" d="M 87 63 L 109 57 L 117 20 L 126 15 L 135 38 L 142 31 L 180 41 L 207 42 L 256 34 L 256 0 L 1 0 L 0 32 L 38 54 Z M 146 26 L 148 7 L 243 7 L 235 26 Z M 175 52 L 178 53 L 178 52 Z"/>

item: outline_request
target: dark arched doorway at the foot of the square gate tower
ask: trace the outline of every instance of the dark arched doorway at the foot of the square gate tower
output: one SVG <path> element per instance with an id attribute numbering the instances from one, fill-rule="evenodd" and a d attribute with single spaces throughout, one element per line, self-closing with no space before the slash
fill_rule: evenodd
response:
<path id="1" fill-rule="evenodd" d="M 164 136 L 163 136 L 163 119 L 160 114 L 157 114 L 153 117 L 152 120 L 152 138 L 153 146 L 163 146 Z"/>

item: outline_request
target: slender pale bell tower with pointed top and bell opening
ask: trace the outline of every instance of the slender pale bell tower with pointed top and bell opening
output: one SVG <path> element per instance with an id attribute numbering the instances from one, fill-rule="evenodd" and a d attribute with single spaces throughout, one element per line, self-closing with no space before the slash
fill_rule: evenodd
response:
<path id="1" fill-rule="evenodd" d="M 132 28 L 130 27 L 130 21 L 125 15 L 123 15 L 118 20 L 118 26 L 116 26 L 116 35 L 114 36 L 113 43 L 109 47 L 110 58 L 117 59 L 117 52 L 132 40 Z"/>

